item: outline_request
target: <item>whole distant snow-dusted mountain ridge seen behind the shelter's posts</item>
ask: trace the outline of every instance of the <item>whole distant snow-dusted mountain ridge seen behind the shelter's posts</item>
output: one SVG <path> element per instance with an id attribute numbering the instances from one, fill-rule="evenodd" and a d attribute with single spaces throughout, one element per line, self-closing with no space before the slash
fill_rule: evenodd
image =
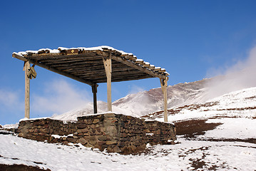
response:
<path id="1" fill-rule="evenodd" d="M 200 103 L 206 100 L 205 85 L 209 79 L 192 83 L 179 83 L 168 86 L 168 108 L 174 106 Z M 135 94 L 126 95 L 113 102 L 113 112 L 140 117 L 163 109 L 163 93 L 161 88 L 153 88 Z M 98 101 L 98 113 L 107 111 L 107 104 Z M 93 113 L 93 103 L 88 103 L 83 108 L 68 111 L 61 115 L 53 115 L 52 118 L 59 120 L 76 120 L 78 116 Z"/>

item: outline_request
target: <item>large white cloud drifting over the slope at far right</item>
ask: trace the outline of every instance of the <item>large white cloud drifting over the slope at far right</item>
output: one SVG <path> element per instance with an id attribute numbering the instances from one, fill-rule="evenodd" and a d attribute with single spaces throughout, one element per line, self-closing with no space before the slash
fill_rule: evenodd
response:
<path id="1" fill-rule="evenodd" d="M 215 72 L 217 73 L 217 72 Z M 223 72 L 222 72 L 223 73 Z M 226 68 L 222 76 L 213 78 L 209 83 L 209 97 L 216 97 L 242 88 L 256 86 L 256 46 L 250 50 L 245 61 L 238 61 Z"/>

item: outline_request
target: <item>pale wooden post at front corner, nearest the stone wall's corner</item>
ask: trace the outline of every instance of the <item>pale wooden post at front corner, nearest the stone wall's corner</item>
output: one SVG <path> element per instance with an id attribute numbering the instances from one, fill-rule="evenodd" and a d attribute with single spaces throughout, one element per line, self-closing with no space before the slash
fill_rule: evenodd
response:
<path id="1" fill-rule="evenodd" d="M 112 100 L 111 100 L 111 73 L 112 73 L 112 66 L 111 66 L 111 53 L 109 53 L 108 57 L 103 57 L 103 63 L 106 71 L 107 76 L 107 91 L 108 91 L 108 111 L 112 112 Z"/>

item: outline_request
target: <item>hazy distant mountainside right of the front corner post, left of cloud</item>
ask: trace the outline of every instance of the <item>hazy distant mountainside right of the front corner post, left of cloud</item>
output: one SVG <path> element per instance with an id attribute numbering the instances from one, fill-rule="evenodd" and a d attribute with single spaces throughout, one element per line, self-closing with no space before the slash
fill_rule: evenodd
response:
<path id="1" fill-rule="evenodd" d="M 179 83 L 168 86 L 168 108 L 192 103 L 200 103 L 206 99 L 205 85 L 209 79 L 195 81 L 192 83 Z M 156 110 L 163 109 L 163 93 L 161 88 L 153 88 L 136 94 L 126 95 L 113 102 L 113 105 L 131 110 L 138 115 L 146 115 Z"/>

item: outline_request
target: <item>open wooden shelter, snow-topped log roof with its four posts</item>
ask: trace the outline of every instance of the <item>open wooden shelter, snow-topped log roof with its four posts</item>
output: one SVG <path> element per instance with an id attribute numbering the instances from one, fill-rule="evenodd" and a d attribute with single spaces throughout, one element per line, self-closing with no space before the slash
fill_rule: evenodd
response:
<path id="1" fill-rule="evenodd" d="M 112 111 L 111 82 L 132 81 L 143 78 L 160 78 L 164 95 L 165 122 L 167 119 L 167 81 L 165 69 L 150 65 L 132 53 L 118 51 L 110 46 L 93 48 L 42 48 L 39 51 L 13 53 L 14 58 L 24 61 L 25 71 L 25 117 L 29 118 L 29 85 L 34 66 L 46 68 L 92 87 L 93 110 L 97 113 L 98 83 L 107 83 L 108 111 Z M 31 67 L 31 63 L 34 64 Z M 33 77 L 35 77 L 33 75 Z"/>

